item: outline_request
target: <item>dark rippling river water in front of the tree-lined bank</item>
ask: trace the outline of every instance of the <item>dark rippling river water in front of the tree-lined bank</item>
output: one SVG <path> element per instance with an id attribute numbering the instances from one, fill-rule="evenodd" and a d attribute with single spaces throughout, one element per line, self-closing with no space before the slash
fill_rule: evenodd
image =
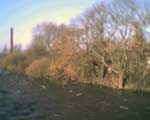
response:
<path id="1" fill-rule="evenodd" d="M 150 120 L 150 95 L 0 74 L 0 120 Z"/>

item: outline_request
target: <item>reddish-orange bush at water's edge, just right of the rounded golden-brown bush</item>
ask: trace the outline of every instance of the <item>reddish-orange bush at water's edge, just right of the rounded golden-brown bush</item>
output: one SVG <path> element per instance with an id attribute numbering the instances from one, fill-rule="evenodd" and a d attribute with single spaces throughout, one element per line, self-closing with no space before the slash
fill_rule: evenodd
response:
<path id="1" fill-rule="evenodd" d="M 49 65 L 49 75 L 56 80 L 76 80 L 76 66 L 72 64 L 73 56 L 61 56 Z"/>

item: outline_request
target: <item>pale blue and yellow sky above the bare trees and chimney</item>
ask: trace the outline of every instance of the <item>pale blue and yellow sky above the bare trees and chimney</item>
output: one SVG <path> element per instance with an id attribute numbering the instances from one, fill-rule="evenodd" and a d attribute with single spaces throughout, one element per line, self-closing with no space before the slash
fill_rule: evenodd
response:
<path id="1" fill-rule="evenodd" d="M 37 24 L 49 21 L 67 24 L 70 19 L 100 1 L 102 0 L 0 0 L 0 49 L 6 44 L 9 47 L 11 27 L 14 28 L 14 43 L 25 47 Z M 144 6 L 144 0 L 136 1 Z M 146 7 L 148 4 L 150 5 L 150 0 L 145 0 Z"/>

